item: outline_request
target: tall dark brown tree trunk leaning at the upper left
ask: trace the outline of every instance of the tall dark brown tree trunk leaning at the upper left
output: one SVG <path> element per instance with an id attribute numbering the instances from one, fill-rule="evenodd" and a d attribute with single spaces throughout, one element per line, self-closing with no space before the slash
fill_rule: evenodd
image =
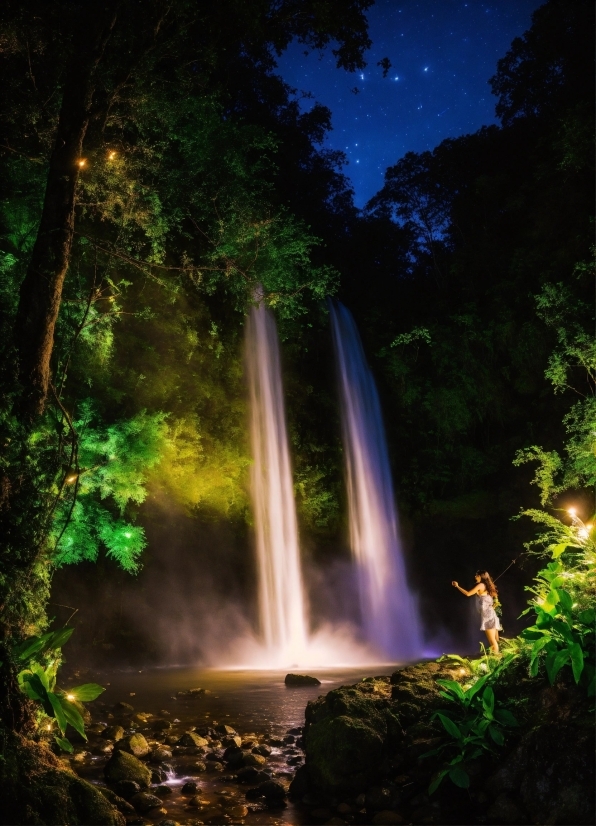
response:
<path id="1" fill-rule="evenodd" d="M 81 9 L 73 35 L 73 56 L 64 85 L 56 140 L 37 238 L 21 285 L 14 340 L 22 395 L 19 412 L 28 419 L 43 412 L 50 383 L 54 328 L 74 236 L 76 189 L 83 141 L 91 116 L 97 67 L 110 38 L 119 2 L 96 11 Z"/>

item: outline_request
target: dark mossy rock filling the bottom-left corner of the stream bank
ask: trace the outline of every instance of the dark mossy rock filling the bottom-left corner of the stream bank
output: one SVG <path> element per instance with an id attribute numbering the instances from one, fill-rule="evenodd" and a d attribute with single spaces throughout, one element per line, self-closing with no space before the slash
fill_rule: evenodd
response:
<path id="1" fill-rule="evenodd" d="M 41 743 L 4 733 L 0 824 L 125 826 L 101 792 L 77 777 Z"/>

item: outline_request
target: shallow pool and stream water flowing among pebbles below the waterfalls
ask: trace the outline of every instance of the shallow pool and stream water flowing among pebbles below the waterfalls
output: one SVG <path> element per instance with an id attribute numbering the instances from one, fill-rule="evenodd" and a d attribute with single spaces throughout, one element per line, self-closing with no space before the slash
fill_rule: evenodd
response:
<path id="1" fill-rule="evenodd" d="M 162 764 L 167 779 L 164 778 L 161 784 L 154 784 L 155 787 L 162 786 L 162 811 L 151 810 L 129 822 L 149 824 L 166 820 L 189 826 L 199 823 L 267 826 L 309 823 L 312 822 L 309 812 L 313 805 L 305 806 L 288 799 L 284 808 L 267 809 L 262 801 L 246 798 L 250 784 L 240 784 L 227 768 L 223 771 L 219 766 L 219 771 L 201 768 L 201 762 L 208 769 L 212 768 L 210 761 L 217 762 L 215 755 L 218 749 L 221 754 L 217 743 L 206 749 L 211 751 L 210 755 L 188 754 L 188 749 L 173 745 L 175 738 L 193 727 L 200 731 L 206 726 L 228 725 L 242 737 L 243 747 L 268 746 L 271 749 L 264 768 L 270 772 L 272 779 L 287 786 L 296 769 L 302 765 L 300 732 L 295 730 L 304 725 L 307 702 L 333 688 L 356 683 L 365 676 L 391 674 L 396 667 L 369 665 L 358 669 L 309 669 L 308 673 L 316 676 L 321 685 L 294 688 L 284 684 L 286 671 L 180 667 L 81 674 L 78 679 L 97 680 L 106 687 L 106 691 L 98 701 L 89 704 L 93 717 L 89 726 L 89 743 L 77 744 L 78 754 L 71 761 L 72 766 L 85 779 L 104 785 L 103 767 L 109 754 L 102 751 L 106 741 L 102 740 L 99 732 L 104 725 L 119 722 L 127 733 L 140 731 L 148 741 L 161 741 L 172 750 L 172 758 Z M 200 693 L 183 693 L 199 688 L 203 689 Z M 134 712 L 123 715 L 117 706 L 121 702 L 132 705 Z M 139 713 L 147 715 L 146 722 L 134 717 Z M 156 718 L 167 720 L 171 728 L 161 735 L 155 734 L 152 721 Z M 291 729 L 294 729 L 293 734 Z M 294 742 L 281 742 L 292 738 Z M 254 742 L 251 744 L 249 741 Z M 189 779 L 199 786 L 200 801 L 195 800 L 194 806 L 189 805 L 189 795 L 182 793 L 182 786 Z M 171 793 L 163 786 L 168 786 Z"/>

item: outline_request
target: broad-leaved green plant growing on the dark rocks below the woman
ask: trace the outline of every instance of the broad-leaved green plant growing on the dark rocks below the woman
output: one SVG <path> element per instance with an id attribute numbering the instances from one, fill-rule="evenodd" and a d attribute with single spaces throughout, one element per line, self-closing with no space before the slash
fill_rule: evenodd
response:
<path id="1" fill-rule="evenodd" d="M 494 753 L 495 745 L 502 746 L 505 743 L 504 728 L 518 725 L 513 714 L 495 699 L 492 686 L 497 683 L 499 674 L 507 668 L 514 656 L 506 655 L 491 671 L 484 676 L 476 676 L 467 686 L 461 686 L 455 680 L 437 680 L 437 685 L 443 689 L 441 697 L 448 700 L 454 708 L 450 712 L 443 710 L 433 714 L 432 719 L 439 719 L 448 737 L 436 749 L 425 752 L 420 757 L 422 760 L 442 755 L 446 751 L 449 754 L 442 768 L 435 773 L 428 788 L 429 794 L 439 788 L 445 777 L 449 777 L 456 786 L 467 789 L 470 776 L 466 764 L 480 757 L 483 752 Z"/>

